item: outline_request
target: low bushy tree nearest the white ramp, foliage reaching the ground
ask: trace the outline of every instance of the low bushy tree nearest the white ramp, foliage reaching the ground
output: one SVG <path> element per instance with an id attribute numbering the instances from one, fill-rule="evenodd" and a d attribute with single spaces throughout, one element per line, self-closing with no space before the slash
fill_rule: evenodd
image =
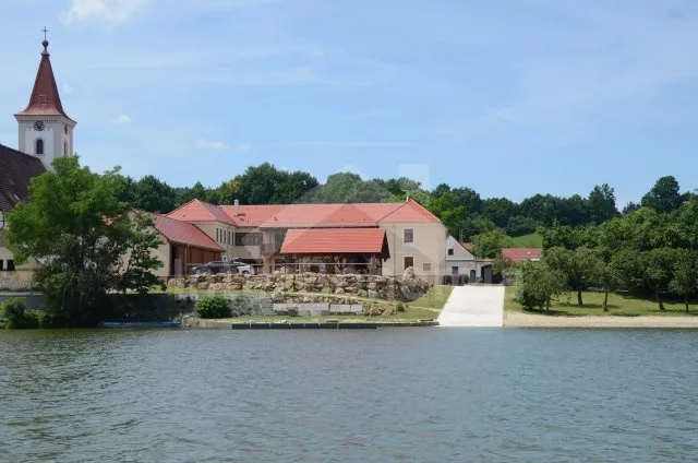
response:
<path id="1" fill-rule="evenodd" d="M 544 262 L 524 261 L 517 268 L 515 299 L 529 310 L 550 310 L 551 301 L 565 289 L 565 275 Z"/>

